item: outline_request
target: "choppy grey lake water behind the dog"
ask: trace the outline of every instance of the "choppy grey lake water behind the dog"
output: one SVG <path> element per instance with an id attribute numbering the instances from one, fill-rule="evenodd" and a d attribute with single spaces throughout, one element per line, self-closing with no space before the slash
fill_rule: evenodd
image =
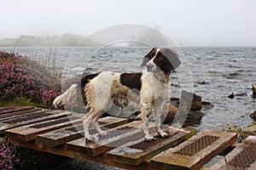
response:
<path id="1" fill-rule="evenodd" d="M 142 59 L 150 48 L 0 48 L 24 54 L 40 62 L 55 65 L 67 77 L 97 71 L 143 71 Z M 201 95 L 214 107 L 203 111 L 201 124 L 195 128 L 221 130 L 224 123 L 247 127 L 256 110 L 256 99 L 236 97 L 227 99 L 231 92 L 252 94 L 256 83 L 256 48 L 181 48 L 183 65 L 172 77 L 171 95 L 179 96 L 182 89 Z M 187 63 L 186 63 L 187 61 Z M 190 71 L 189 71 L 190 70 Z M 184 74 L 182 74 L 184 73 Z M 198 82 L 207 82 L 201 84 Z"/>

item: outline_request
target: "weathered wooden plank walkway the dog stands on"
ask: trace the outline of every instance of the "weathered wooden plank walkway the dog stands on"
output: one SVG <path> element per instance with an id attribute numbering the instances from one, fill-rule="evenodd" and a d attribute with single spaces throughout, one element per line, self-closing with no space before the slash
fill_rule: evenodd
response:
<path id="1" fill-rule="evenodd" d="M 100 136 L 90 127 L 95 141 L 85 142 L 83 116 L 34 107 L 0 108 L 0 133 L 26 148 L 125 169 L 200 169 L 213 157 L 230 151 L 237 136 L 211 130 L 195 134 L 192 128 L 169 126 L 164 128 L 169 136 L 162 139 L 155 133 L 154 123 L 149 122 L 156 140 L 147 142 L 140 128 L 142 122 L 127 123 L 124 118 L 107 116 L 99 124 L 108 135 Z M 226 161 L 210 168 L 225 169 L 224 163 L 229 162 L 230 169 L 255 169 L 255 141 L 255 137 L 249 137 L 225 156 Z M 241 161 L 245 153 L 249 153 L 246 162 Z"/>

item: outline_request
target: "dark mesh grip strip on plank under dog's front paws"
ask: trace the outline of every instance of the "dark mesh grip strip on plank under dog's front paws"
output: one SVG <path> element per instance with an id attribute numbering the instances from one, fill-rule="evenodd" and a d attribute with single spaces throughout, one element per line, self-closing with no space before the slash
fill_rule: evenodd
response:
<path id="1" fill-rule="evenodd" d="M 153 146 L 154 144 L 159 144 L 160 142 L 166 140 L 166 139 L 170 139 L 172 138 L 173 136 L 175 136 L 178 132 L 176 133 L 169 133 L 168 134 L 168 137 L 166 138 L 161 138 L 160 136 L 156 136 L 155 137 L 155 140 L 152 140 L 152 141 L 146 141 L 146 140 L 143 140 L 143 142 L 140 142 L 138 144 L 133 144 L 131 145 L 130 147 L 133 148 L 133 149 L 137 149 L 137 150 L 146 150 L 148 149 L 149 147 Z"/>

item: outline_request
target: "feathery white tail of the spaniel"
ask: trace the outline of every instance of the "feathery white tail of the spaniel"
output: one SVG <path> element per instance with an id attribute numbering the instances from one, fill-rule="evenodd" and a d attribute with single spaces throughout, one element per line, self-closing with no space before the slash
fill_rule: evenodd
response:
<path id="1" fill-rule="evenodd" d="M 76 100 L 78 96 L 79 84 L 73 84 L 64 94 L 59 95 L 55 98 L 52 105 L 55 108 L 60 107 L 61 105 L 67 104 L 71 99 Z"/>

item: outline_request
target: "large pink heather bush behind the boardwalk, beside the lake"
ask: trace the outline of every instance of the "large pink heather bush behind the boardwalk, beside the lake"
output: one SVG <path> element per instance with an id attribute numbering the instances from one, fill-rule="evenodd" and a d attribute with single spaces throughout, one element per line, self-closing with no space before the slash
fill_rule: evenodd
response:
<path id="1" fill-rule="evenodd" d="M 43 65 L 27 57 L 0 52 L 0 101 L 23 97 L 51 108 L 53 99 L 60 94 L 61 82 Z"/>

